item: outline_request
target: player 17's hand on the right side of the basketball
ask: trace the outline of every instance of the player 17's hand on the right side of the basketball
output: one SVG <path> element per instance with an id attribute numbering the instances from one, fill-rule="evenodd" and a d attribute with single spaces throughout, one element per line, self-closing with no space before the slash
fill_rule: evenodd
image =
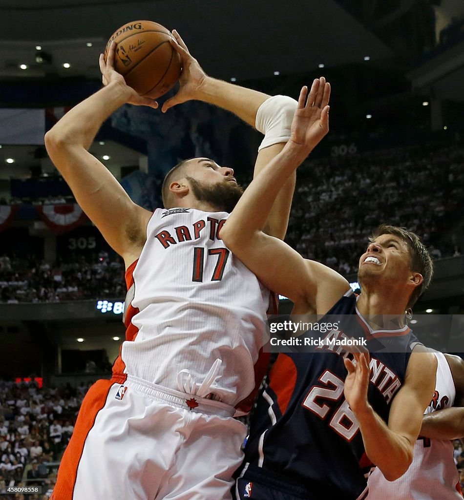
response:
<path id="1" fill-rule="evenodd" d="M 187 46 L 175 29 L 172 30 L 172 36 L 169 41 L 174 49 L 180 54 L 182 59 L 182 72 L 180 73 L 180 88 L 175 95 L 167 99 L 161 107 L 165 113 L 170 107 L 195 99 L 201 84 L 206 77 L 198 61 L 192 57 Z"/>

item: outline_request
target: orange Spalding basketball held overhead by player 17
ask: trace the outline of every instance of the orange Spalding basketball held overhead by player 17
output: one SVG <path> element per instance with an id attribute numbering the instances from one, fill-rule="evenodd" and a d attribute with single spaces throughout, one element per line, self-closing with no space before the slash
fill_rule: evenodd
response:
<path id="1" fill-rule="evenodd" d="M 156 99 L 180 76 L 180 55 L 169 43 L 168 29 L 153 21 L 132 21 L 116 29 L 106 43 L 116 42 L 114 69 L 139 95 Z"/>

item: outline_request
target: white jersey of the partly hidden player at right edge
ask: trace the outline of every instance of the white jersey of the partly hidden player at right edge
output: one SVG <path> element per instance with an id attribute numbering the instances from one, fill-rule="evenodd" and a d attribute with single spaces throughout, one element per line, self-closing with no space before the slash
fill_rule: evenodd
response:
<path id="1" fill-rule="evenodd" d="M 434 353 L 438 360 L 436 385 L 430 405 L 424 414 L 454 403 L 455 388 L 446 357 Z M 453 459 L 451 441 L 419 437 L 414 445 L 412 463 L 395 481 L 387 481 L 379 468 L 368 478 L 367 500 L 462 500 L 458 493 L 459 475 Z M 459 488 L 460 491 L 460 488 Z"/>

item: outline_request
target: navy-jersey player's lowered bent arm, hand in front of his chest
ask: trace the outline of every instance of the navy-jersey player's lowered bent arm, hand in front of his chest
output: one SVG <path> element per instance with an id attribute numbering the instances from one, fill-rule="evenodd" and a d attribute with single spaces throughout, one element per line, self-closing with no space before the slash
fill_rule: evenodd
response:
<path id="1" fill-rule="evenodd" d="M 368 354 L 355 353 L 354 363 L 344 361 L 348 370 L 345 399 L 359 423 L 367 456 L 389 481 L 404 474 L 412 461 L 422 415 L 435 387 L 436 357 L 416 349 L 409 358 L 404 383 L 391 403 L 388 425 L 367 401 Z"/>

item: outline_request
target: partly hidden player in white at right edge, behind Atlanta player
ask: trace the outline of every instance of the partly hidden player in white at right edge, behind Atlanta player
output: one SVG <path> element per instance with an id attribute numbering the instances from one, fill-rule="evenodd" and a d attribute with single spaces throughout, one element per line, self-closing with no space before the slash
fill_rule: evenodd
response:
<path id="1" fill-rule="evenodd" d="M 450 439 L 464 436 L 464 361 L 435 352 L 433 398 L 425 409 L 412 463 L 399 479 L 387 481 L 378 468 L 369 476 L 368 500 L 459 500 L 462 492 Z M 453 408 L 458 404 L 460 407 Z"/>

